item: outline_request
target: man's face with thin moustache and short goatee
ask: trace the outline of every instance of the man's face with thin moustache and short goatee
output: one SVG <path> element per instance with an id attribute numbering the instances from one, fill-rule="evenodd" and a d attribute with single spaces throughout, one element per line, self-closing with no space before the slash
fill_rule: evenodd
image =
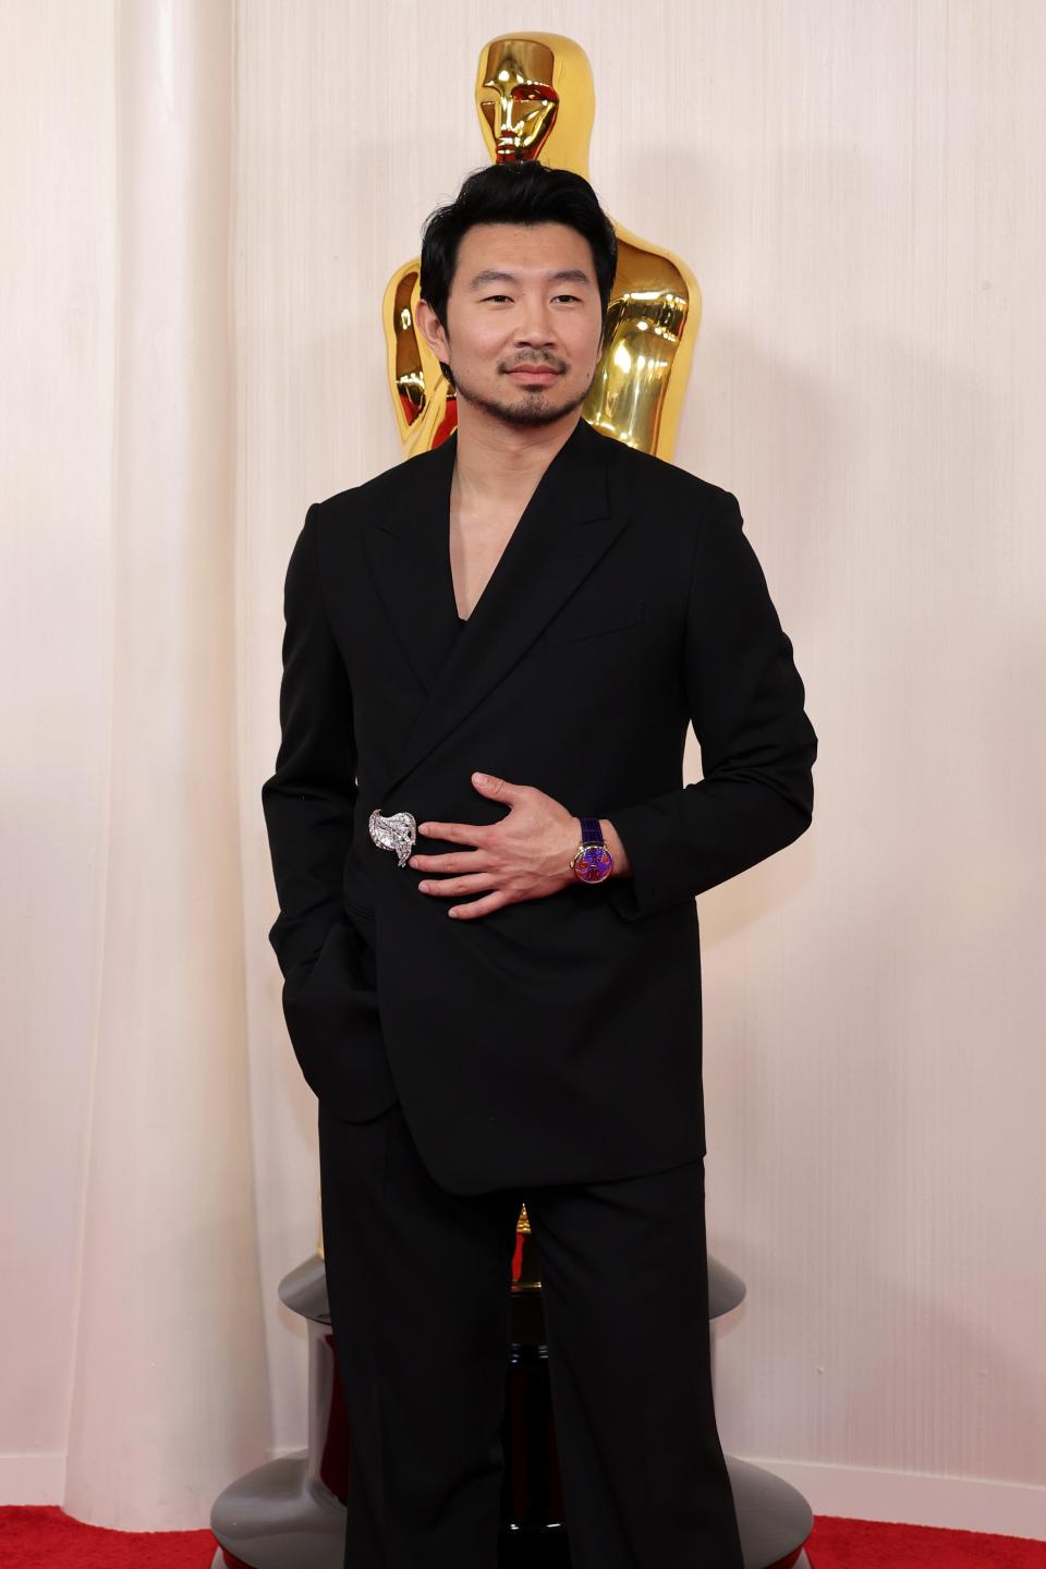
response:
<path id="1" fill-rule="evenodd" d="M 419 322 L 464 402 L 518 425 L 552 424 L 585 402 L 602 304 L 577 229 L 474 224 L 458 246 L 445 314 L 445 333 L 431 311 Z"/>

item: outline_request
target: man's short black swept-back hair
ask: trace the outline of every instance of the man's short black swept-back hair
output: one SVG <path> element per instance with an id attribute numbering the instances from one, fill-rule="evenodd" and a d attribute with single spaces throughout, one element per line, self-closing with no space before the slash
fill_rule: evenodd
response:
<path id="1" fill-rule="evenodd" d="M 610 218 L 583 176 L 525 158 L 474 169 L 455 199 L 425 220 L 420 295 L 444 328 L 458 246 L 475 223 L 566 223 L 577 229 L 591 246 L 605 317 L 618 268 L 618 238 Z"/>

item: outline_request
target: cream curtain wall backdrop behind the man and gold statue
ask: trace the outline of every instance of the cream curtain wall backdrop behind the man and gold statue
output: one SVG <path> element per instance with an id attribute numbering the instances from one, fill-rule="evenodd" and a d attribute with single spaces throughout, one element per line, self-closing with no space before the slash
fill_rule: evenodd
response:
<path id="1" fill-rule="evenodd" d="M 739 494 L 822 737 L 812 832 L 699 901 L 725 1447 L 1046 1538 L 1038 0 L 0 11 L 0 1498 L 198 1527 L 304 1443 L 282 577 L 398 460 L 381 292 L 521 25 L 698 273 L 676 461 Z"/>

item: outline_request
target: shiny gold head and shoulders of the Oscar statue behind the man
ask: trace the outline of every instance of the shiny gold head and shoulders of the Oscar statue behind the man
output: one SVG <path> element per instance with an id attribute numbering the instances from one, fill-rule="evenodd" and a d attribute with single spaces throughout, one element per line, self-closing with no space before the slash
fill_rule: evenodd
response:
<path id="1" fill-rule="evenodd" d="M 491 158 L 538 158 L 588 179 L 596 113 L 585 50 L 558 33 L 513 33 L 480 52 L 475 104 Z M 613 224 L 618 270 L 602 353 L 582 417 L 629 447 L 671 458 L 701 320 L 698 281 L 677 256 Z M 403 457 L 438 447 L 458 424 L 456 397 L 414 325 L 420 257 L 389 279 L 381 320 Z"/>

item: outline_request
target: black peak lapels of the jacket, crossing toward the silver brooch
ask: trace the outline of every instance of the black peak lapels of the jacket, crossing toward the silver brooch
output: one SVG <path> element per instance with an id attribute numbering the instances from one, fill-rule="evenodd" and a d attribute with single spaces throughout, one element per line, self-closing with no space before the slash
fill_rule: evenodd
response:
<path id="1" fill-rule="evenodd" d="M 416 471 L 414 485 L 405 486 L 409 515 L 367 529 L 378 593 L 425 693 L 375 802 L 381 811 L 390 810 L 395 786 L 505 679 L 626 526 L 610 504 L 612 446 L 613 438 L 579 419 L 464 626 L 450 573 L 456 431 L 408 460 L 406 468 Z"/>

